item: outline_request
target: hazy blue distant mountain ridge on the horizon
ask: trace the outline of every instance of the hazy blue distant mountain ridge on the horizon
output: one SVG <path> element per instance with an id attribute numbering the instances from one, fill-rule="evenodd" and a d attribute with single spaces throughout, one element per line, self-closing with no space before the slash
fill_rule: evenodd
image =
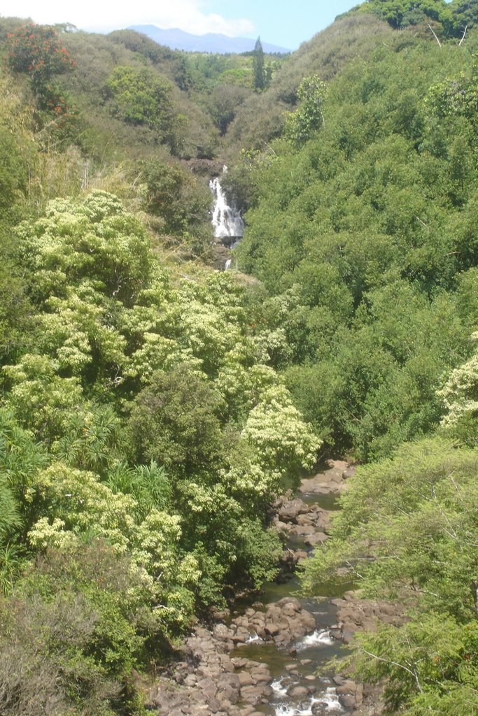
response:
<path id="1" fill-rule="evenodd" d="M 227 37 L 227 35 L 209 32 L 205 35 L 192 35 L 180 29 L 162 30 L 156 25 L 130 25 L 130 30 L 148 35 L 158 44 L 166 45 L 171 49 L 183 49 L 186 52 L 216 52 L 226 54 L 232 52 L 250 52 L 254 49 L 255 40 L 248 37 Z M 264 52 L 292 52 L 287 47 L 262 42 Z"/>

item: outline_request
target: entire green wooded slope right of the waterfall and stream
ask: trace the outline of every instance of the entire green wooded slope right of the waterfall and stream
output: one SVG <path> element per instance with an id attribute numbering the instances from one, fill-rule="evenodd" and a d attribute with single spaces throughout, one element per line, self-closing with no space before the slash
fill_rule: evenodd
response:
<path id="1" fill-rule="evenodd" d="M 407 623 L 355 639 L 349 668 L 386 679 L 392 713 L 458 715 L 478 708 L 477 9 L 397 6 L 291 58 L 297 108 L 234 170 L 237 263 L 322 450 L 371 463 L 304 589 L 400 602 Z"/>

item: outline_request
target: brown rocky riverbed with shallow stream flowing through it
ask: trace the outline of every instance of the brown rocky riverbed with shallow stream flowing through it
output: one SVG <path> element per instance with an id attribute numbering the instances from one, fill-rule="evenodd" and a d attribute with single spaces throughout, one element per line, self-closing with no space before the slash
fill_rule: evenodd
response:
<path id="1" fill-rule="evenodd" d="M 288 545 L 282 584 L 264 585 L 264 601 L 216 611 L 211 624 L 197 627 L 183 644 L 182 660 L 150 689 L 150 710 L 158 716 L 381 713 L 380 690 L 315 672 L 357 629 L 374 629 L 378 620 L 400 624 L 400 608 L 355 599 L 351 591 L 307 600 L 291 595 L 297 563 L 328 539 L 330 515 L 351 474 L 347 463 L 334 461 L 302 480 L 298 496 L 277 500 L 274 523 Z"/>

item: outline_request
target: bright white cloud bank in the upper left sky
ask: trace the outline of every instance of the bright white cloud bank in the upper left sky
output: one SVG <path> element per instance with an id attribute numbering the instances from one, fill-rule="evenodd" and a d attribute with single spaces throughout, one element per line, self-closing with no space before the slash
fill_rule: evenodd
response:
<path id="1" fill-rule="evenodd" d="M 179 27 L 193 34 L 220 32 L 229 37 L 254 33 L 246 18 L 226 19 L 208 11 L 206 0 L 118 0 L 113 5 L 95 0 L 65 4 L 63 0 L 3 0 L 2 16 L 31 17 L 35 22 L 70 22 L 80 29 L 107 31 L 128 25 Z"/>

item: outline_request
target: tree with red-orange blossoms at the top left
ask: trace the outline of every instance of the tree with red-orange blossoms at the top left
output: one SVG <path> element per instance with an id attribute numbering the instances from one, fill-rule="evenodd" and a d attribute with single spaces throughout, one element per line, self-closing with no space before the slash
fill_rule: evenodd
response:
<path id="1" fill-rule="evenodd" d="M 8 64 L 16 72 L 27 72 L 35 92 L 42 92 L 53 74 L 67 72 L 75 61 L 49 25 L 24 25 L 8 37 Z"/>

